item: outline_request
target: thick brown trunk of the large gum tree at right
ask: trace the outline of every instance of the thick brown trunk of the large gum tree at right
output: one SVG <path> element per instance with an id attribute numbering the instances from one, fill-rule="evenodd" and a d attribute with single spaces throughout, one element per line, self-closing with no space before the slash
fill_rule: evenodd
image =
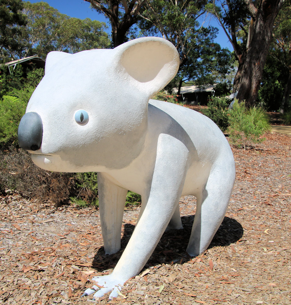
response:
<path id="1" fill-rule="evenodd" d="M 243 65 L 237 98 L 253 106 L 257 99 L 264 64 L 272 39 L 275 18 L 283 0 L 262 0 L 257 8 L 253 36 Z"/>

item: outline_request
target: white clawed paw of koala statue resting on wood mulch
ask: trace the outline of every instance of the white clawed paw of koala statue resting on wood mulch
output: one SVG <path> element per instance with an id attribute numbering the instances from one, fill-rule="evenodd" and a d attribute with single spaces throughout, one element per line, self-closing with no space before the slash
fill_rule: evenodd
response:
<path id="1" fill-rule="evenodd" d="M 88 296 L 95 292 L 94 299 L 96 299 L 112 290 L 109 296 L 109 299 L 112 300 L 112 298 L 116 298 L 119 295 L 118 292 L 121 290 L 122 285 L 124 284 L 123 280 L 113 277 L 111 274 L 100 277 L 95 276 L 92 278 L 92 280 L 97 282 L 98 286 L 94 285 L 92 288 L 86 289 L 82 296 Z M 101 288 L 99 286 L 101 286 Z"/>

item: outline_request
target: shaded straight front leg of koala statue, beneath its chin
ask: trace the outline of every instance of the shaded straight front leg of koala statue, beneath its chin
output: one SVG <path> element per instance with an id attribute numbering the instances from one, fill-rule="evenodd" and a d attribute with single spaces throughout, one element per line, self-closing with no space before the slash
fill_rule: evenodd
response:
<path id="1" fill-rule="evenodd" d="M 106 254 L 113 254 L 120 250 L 127 190 L 115 185 L 103 173 L 97 174 L 97 182 L 104 250 Z"/>

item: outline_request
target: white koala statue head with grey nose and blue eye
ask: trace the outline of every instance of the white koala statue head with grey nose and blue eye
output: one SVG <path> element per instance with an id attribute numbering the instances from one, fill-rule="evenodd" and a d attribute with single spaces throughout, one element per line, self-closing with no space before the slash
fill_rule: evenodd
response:
<path id="1" fill-rule="evenodd" d="M 52 171 L 123 168 L 141 152 L 149 99 L 176 75 L 179 56 L 163 38 L 110 50 L 50 52 L 18 138 Z"/>

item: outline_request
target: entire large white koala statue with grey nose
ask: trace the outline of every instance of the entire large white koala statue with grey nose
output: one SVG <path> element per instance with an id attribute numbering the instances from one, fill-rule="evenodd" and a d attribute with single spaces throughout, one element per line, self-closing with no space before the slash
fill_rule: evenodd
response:
<path id="1" fill-rule="evenodd" d="M 228 142 L 208 117 L 150 99 L 176 75 L 169 41 L 146 37 L 114 49 L 50 52 L 45 76 L 18 128 L 20 147 L 45 170 L 98 172 L 104 249 L 120 249 L 128 190 L 142 197 L 135 230 L 109 275 L 95 277 L 103 296 L 137 275 L 166 228 L 181 229 L 179 199 L 197 198 L 187 253 L 207 249 L 232 193 L 235 163 Z"/>

